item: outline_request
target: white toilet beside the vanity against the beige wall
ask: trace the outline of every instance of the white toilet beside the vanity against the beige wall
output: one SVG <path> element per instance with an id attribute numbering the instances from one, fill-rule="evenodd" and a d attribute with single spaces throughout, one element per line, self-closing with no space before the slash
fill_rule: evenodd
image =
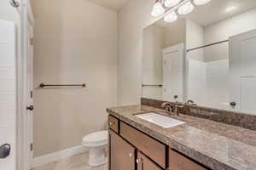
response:
<path id="1" fill-rule="evenodd" d="M 91 167 L 101 166 L 108 162 L 106 148 L 108 146 L 108 131 L 90 133 L 84 137 L 82 144 L 89 150 L 88 164 Z"/>

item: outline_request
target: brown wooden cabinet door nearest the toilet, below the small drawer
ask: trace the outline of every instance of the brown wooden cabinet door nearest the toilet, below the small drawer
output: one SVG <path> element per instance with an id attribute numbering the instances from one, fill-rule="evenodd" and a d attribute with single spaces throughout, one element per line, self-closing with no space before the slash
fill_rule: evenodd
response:
<path id="1" fill-rule="evenodd" d="M 109 130 L 109 170 L 135 170 L 135 148 Z"/>

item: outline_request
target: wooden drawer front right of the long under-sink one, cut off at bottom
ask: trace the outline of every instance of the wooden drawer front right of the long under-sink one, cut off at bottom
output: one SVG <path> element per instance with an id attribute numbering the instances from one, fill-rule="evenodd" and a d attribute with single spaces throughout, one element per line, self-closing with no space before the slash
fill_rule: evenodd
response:
<path id="1" fill-rule="evenodd" d="M 207 170 L 205 167 L 189 160 L 189 158 L 177 153 L 175 150 L 169 150 L 169 167 L 172 170 Z"/>

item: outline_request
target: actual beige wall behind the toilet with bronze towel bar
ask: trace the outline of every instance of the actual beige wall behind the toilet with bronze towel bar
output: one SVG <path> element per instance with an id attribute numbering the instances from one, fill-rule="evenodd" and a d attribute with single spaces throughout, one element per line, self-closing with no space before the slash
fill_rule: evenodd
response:
<path id="1" fill-rule="evenodd" d="M 117 105 L 118 17 L 84 0 L 33 0 L 34 156 L 81 144 Z M 38 89 L 86 83 L 84 89 Z"/>

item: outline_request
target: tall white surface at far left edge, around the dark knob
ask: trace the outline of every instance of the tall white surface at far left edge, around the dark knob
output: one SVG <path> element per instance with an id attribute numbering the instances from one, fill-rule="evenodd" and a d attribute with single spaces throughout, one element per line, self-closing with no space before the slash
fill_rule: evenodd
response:
<path id="1" fill-rule="evenodd" d="M 15 170 L 16 162 L 15 23 L 0 20 L 0 169 Z M 10 145 L 10 155 L 3 156 Z"/>

